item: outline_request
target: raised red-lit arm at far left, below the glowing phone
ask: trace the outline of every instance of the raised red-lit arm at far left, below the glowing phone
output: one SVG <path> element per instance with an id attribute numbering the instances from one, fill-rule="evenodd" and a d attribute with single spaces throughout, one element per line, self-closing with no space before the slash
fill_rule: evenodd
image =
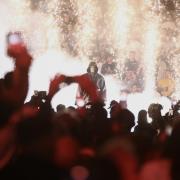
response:
<path id="1" fill-rule="evenodd" d="M 24 103 L 28 92 L 28 73 L 32 57 L 23 44 L 9 45 L 8 55 L 14 59 L 15 69 L 12 75 L 11 88 L 1 87 L 0 100 L 14 105 Z"/>

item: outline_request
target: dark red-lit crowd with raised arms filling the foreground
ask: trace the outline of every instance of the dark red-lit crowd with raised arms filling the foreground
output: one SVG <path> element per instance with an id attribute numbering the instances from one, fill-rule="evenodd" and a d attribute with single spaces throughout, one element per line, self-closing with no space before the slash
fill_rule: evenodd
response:
<path id="1" fill-rule="evenodd" d="M 179 102 L 166 116 L 160 104 L 151 104 L 136 124 L 125 104 L 112 101 L 108 117 L 101 93 L 84 74 L 57 75 L 47 94 L 35 92 L 24 103 L 33 58 L 24 44 L 7 52 L 15 67 L 0 79 L 0 179 L 179 180 Z M 77 83 L 88 103 L 59 104 L 55 111 L 51 100 L 61 83 Z"/>

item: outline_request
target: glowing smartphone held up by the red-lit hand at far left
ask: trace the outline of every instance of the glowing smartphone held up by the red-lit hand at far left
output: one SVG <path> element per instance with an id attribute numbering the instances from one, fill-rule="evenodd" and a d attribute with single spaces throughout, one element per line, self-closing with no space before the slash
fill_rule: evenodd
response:
<path id="1" fill-rule="evenodd" d="M 23 43 L 23 38 L 21 32 L 10 32 L 7 35 L 7 44 L 16 45 Z"/>

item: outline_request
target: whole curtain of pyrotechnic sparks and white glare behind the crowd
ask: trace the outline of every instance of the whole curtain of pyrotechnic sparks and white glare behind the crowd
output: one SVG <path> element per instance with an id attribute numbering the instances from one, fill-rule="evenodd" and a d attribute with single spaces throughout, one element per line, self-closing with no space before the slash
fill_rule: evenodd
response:
<path id="1" fill-rule="evenodd" d="M 131 94 L 133 102 L 130 100 L 129 105 L 132 109 L 138 107 L 134 101 L 144 98 L 147 102 L 141 106 L 147 106 L 148 103 L 159 100 L 157 90 L 164 88 L 161 82 L 166 83 L 161 80 L 168 80 L 162 78 L 164 72 L 160 73 L 160 64 L 164 62 L 165 71 L 171 73 L 170 80 L 176 84 L 174 89 L 172 87 L 166 92 L 167 96 L 180 98 L 179 4 L 175 0 L 171 2 L 1 0 L 0 39 L 4 40 L 9 31 L 15 30 L 21 30 L 25 36 L 35 58 L 28 98 L 35 89 L 47 90 L 50 78 L 56 73 L 82 74 L 89 61 L 96 61 L 101 67 L 106 61 L 106 54 L 111 54 L 118 71 L 115 75 L 106 77 L 108 90 L 112 91 L 108 93 L 108 101 L 112 98 L 120 100 L 120 90 L 126 86 L 122 82 L 126 59 L 129 52 L 133 51 L 142 66 L 144 78 L 141 80 L 141 91 Z M 1 47 L 2 53 L 5 44 Z M 161 58 L 162 55 L 166 59 Z M 4 67 L 0 72 L 2 76 L 12 68 L 12 64 L 7 57 L 1 56 L 1 67 Z M 75 97 L 75 89 L 76 86 L 66 89 L 68 94 L 72 94 L 71 99 Z M 117 97 L 112 97 L 112 94 Z M 60 102 L 74 105 L 74 101 L 63 97 L 60 94 L 55 97 L 54 107 Z"/>

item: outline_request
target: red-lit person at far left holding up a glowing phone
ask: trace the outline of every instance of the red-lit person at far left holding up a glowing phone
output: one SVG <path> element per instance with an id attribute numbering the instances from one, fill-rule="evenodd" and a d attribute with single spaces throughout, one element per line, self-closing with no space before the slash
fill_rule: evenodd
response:
<path id="1" fill-rule="evenodd" d="M 15 67 L 0 79 L 0 116 L 4 121 L 8 119 L 11 112 L 24 104 L 28 92 L 29 68 L 32 63 L 32 56 L 20 32 L 10 32 L 6 38 L 7 55 L 13 59 Z"/>

